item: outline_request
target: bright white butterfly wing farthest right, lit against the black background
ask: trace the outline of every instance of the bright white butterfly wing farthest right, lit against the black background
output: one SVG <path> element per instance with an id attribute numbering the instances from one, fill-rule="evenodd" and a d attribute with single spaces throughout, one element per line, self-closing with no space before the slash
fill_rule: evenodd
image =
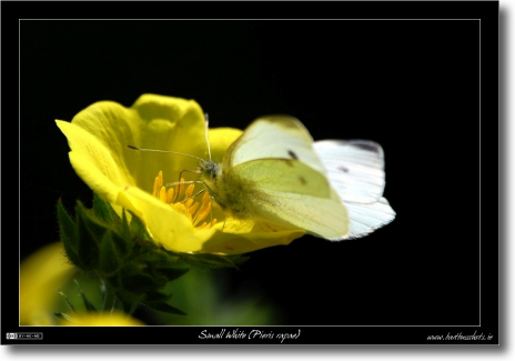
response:
<path id="1" fill-rule="evenodd" d="M 323 140 L 314 149 L 327 169 L 331 185 L 345 203 L 350 218 L 347 238 L 366 235 L 395 219 L 383 198 L 384 153 L 366 140 Z"/>

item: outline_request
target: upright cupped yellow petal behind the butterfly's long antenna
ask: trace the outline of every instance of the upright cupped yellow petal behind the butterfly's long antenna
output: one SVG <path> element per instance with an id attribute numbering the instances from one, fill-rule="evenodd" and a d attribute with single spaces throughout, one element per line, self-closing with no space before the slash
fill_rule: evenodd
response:
<path id="1" fill-rule="evenodd" d="M 128 144 L 208 158 L 204 114 L 194 100 L 143 94 L 131 108 L 101 101 L 79 112 L 72 123 L 103 144 L 122 179 L 149 192 L 160 170 L 179 174 L 183 169 L 195 169 L 198 161 L 178 154 L 135 151 Z"/>

